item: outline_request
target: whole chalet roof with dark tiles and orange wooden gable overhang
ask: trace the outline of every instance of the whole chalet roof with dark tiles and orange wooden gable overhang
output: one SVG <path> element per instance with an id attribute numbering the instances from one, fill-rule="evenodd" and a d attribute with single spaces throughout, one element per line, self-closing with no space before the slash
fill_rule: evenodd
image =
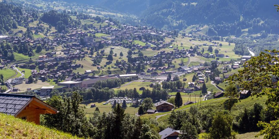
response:
<path id="1" fill-rule="evenodd" d="M 36 98 L 34 95 L 0 93 L 0 112 L 17 116 L 31 101 L 47 108 L 47 113 L 56 113 L 57 109 Z"/>

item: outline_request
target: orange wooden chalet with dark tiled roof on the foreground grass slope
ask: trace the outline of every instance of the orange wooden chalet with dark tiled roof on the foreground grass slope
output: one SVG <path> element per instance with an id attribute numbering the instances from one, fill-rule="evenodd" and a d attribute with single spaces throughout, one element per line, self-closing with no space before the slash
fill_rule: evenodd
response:
<path id="1" fill-rule="evenodd" d="M 56 114 L 57 109 L 34 95 L 0 93 L 0 112 L 40 124 L 40 114 Z"/>

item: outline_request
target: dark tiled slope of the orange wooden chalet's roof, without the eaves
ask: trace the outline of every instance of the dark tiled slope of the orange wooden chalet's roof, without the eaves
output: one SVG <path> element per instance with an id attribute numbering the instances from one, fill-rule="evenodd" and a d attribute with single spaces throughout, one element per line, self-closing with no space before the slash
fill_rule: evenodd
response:
<path id="1" fill-rule="evenodd" d="M 14 116 L 33 97 L 35 96 L 0 93 L 0 112 Z"/>

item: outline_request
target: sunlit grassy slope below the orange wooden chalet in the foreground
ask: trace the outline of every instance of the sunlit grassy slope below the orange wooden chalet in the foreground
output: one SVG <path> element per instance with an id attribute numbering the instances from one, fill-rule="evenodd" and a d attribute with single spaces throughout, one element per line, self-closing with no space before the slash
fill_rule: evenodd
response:
<path id="1" fill-rule="evenodd" d="M 0 138 L 65 138 L 75 139 L 70 134 L 45 128 L 40 125 L 20 120 L 0 113 Z"/>

